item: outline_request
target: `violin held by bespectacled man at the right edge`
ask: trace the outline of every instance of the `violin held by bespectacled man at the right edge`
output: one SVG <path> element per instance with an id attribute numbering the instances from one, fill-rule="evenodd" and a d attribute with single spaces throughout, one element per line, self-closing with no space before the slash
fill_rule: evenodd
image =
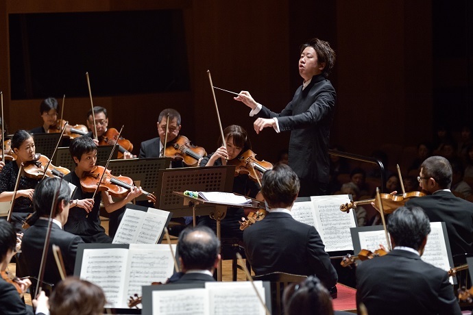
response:
<path id="1" fill-rule="evenodd" d="M 385 214 L 391 214 L 394 210 L 398 209 L 409 201 L 409 199 L 422 197 L 425 196 L 426 193 L 413 191 L 413 192 L 406 192 L 404 194 L 380 194 L 380 199 L 383 202 L 383 211 Z M 356 205 L 367 205 L 369 203 L 374 202 L 376 207 L 380 209 L 380 205 L 376 201 L 376 199 L 367 199 L 367 200 L 360 200 L 360 201 L 350 201 L 349 203 L 344 203 L 340 205 L 340 211 L 342 212 L 350 212 L 350 209 L 356 209 Z"/>

